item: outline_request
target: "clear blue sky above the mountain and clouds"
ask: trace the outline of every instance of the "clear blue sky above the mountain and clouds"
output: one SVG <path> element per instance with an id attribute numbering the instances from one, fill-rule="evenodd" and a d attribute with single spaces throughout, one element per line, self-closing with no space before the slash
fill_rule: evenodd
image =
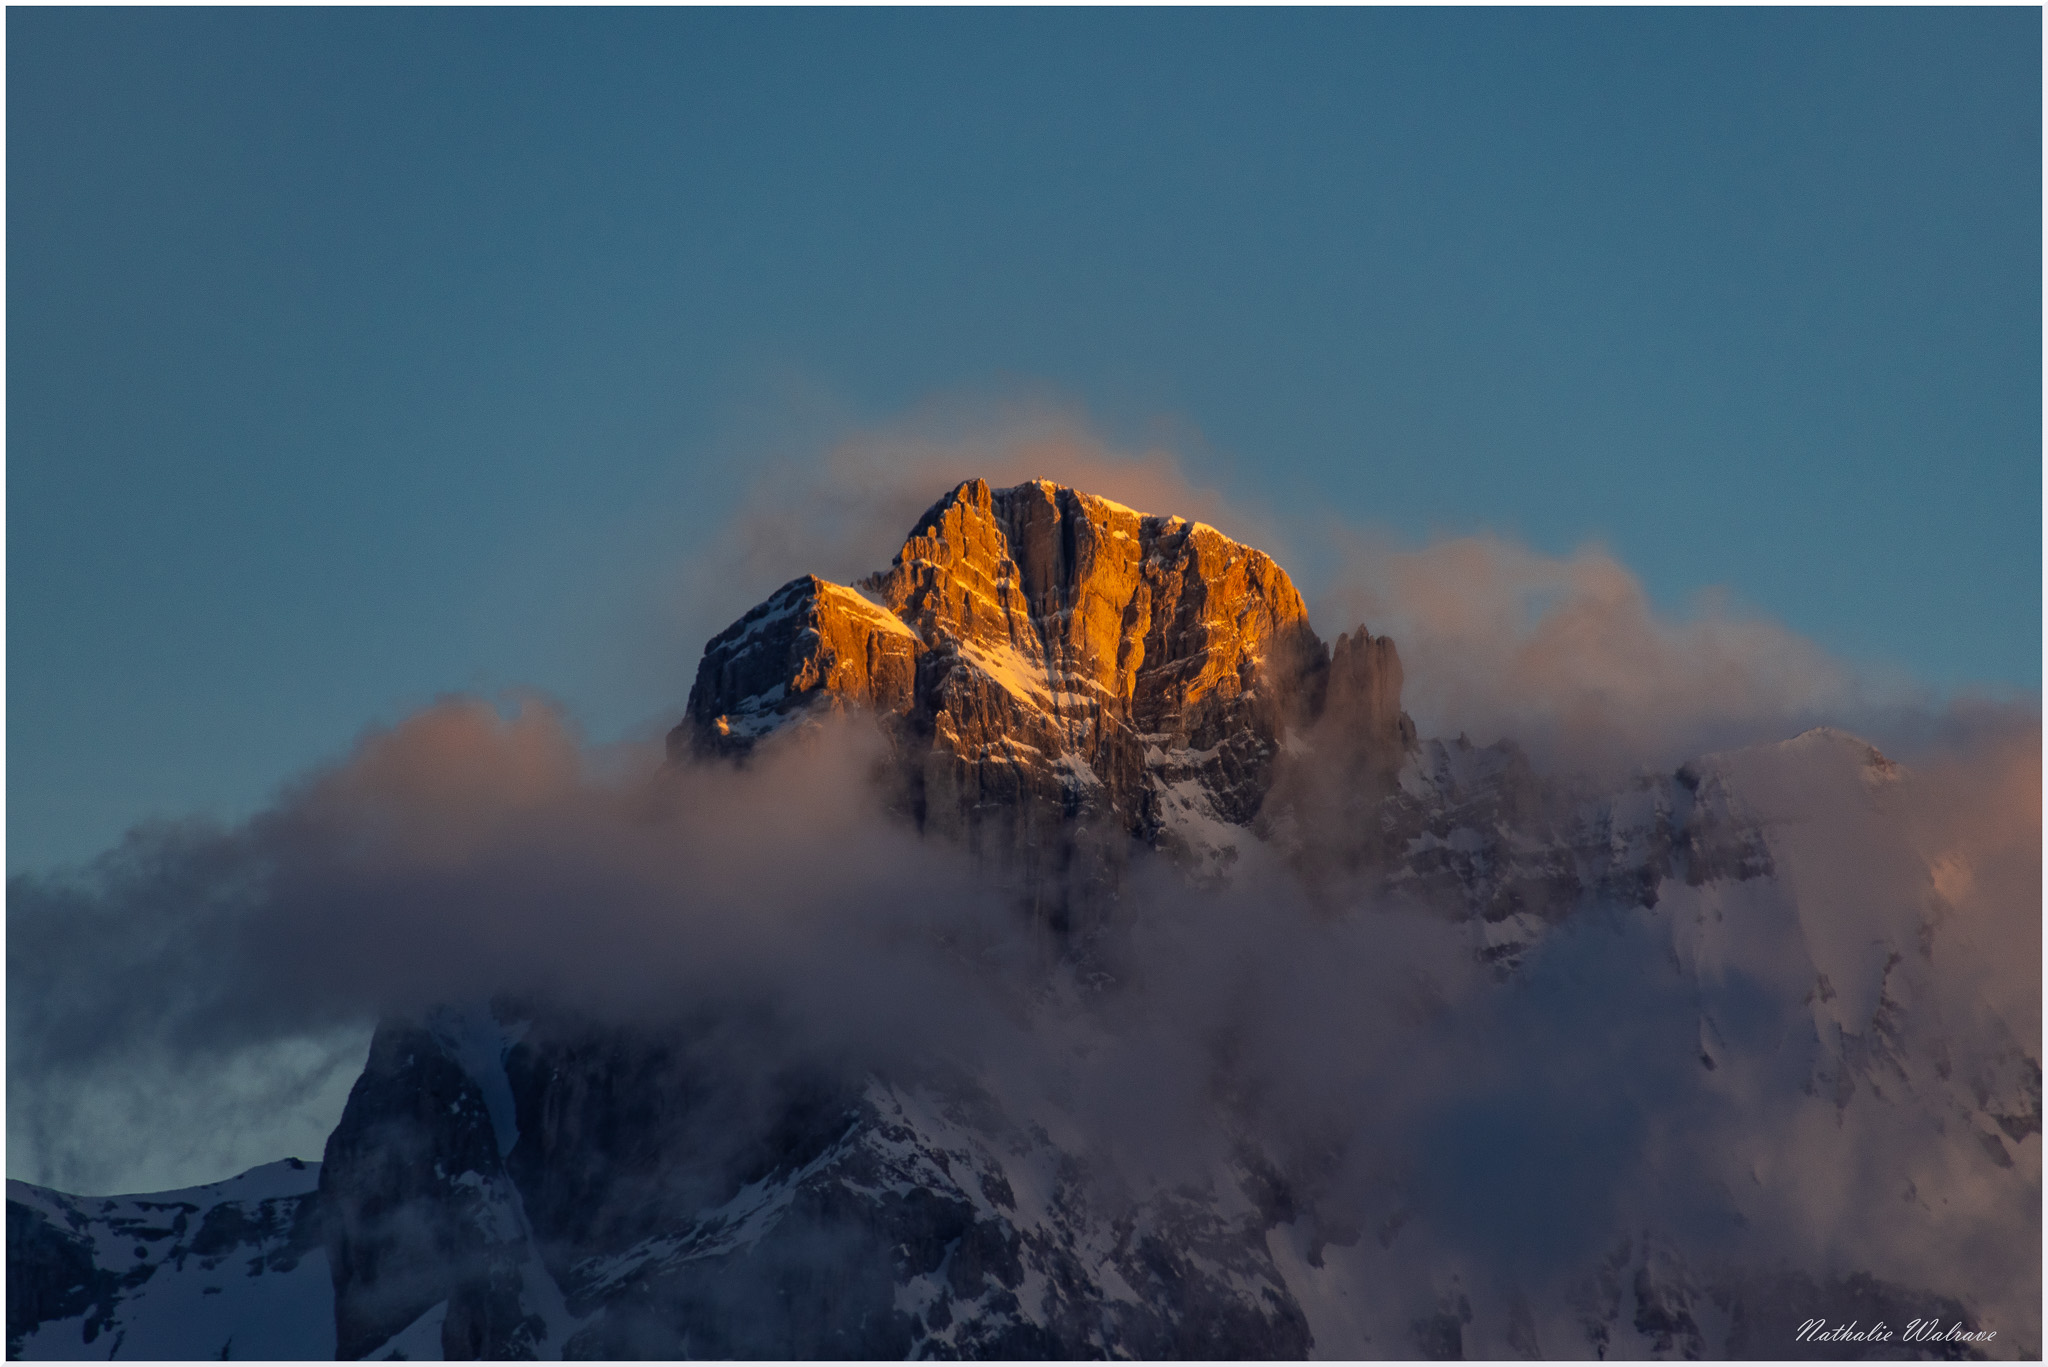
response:
<path id="1" fill-rule="evenodd" d="M 6 23 L 10 869 L 678 715 L 756 457 L 932 402 L 2040 685 L 2032 8 Z"/>

